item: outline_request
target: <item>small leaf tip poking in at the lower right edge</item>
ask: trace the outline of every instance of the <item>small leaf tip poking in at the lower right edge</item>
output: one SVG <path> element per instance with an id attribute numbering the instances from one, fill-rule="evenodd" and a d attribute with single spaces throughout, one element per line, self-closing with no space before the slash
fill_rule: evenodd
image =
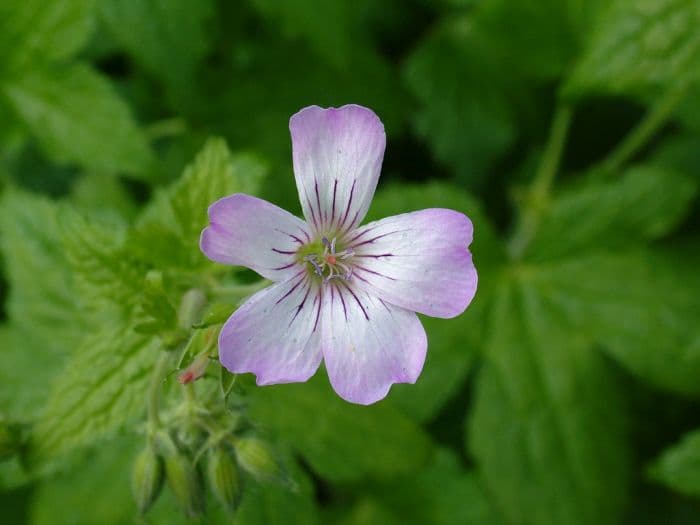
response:
<path id="1" fill-rule="evenodd" d="M 651 476 L 688 496 L 700 497 L 700 431 L 666 449 L 650 468 Z"/>

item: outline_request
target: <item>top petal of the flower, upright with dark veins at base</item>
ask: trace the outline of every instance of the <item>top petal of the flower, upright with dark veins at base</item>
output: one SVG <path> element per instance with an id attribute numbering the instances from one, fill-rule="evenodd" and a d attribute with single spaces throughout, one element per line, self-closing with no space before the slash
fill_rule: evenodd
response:
<path id="1" fill-rule="evenodd" d="M 316 233 L 360 224 L 377 187 L 386 136 L 372 110 L 309 106 L 289 120 L 294 177 Z"/>

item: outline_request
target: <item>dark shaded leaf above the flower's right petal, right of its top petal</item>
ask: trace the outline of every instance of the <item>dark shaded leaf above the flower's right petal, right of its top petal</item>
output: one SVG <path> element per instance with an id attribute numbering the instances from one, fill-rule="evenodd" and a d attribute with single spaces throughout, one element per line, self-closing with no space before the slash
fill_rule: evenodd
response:
<path id="1" fill-rule="evenodd" d="M 467 180 L 482 176 L 515 139 L 506 73 L 490 49 L 470 19 L 455 18 L 425 39 L 404 69 L 421 104 L 413 126 L 437 159 Z"/>

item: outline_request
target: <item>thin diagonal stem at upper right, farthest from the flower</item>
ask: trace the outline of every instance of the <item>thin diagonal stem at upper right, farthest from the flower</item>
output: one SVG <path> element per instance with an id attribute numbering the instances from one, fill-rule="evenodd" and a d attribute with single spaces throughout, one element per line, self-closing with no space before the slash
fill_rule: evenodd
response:
<path id="1" fill-rule="evenodd" d="M 647 112 L 644 118 L 627 135 L 624 140 L 601 162 L 600 168 L 605 173 L 619 170 L 627 161 L 642 149 L 663 126 L 676 106 L 683 100 L 688 88 L 683 82 L 669 89 Z"/>

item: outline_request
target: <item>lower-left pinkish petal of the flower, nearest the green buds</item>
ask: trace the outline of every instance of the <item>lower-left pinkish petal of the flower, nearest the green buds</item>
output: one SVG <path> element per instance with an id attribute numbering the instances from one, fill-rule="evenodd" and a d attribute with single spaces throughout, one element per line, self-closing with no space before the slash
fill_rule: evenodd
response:
<path id="1" fill-rule="evenodd" d="M 251 297 L 226 321 L 219 359 L 258 385 L 309 379 L 321 363 L 320 296 L 306 272 Z"/>

